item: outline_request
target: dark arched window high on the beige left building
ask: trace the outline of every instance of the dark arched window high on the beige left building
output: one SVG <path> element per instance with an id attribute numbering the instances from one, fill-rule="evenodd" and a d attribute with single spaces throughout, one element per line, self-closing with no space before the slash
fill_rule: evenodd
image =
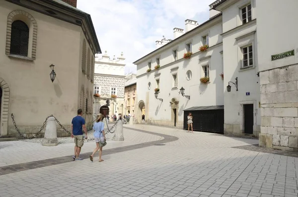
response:
<path id="1" fill-rule="evenodd" d="M 21 20 L 11 24 L 10 54 L 28 56 L 29 27 Z"/>

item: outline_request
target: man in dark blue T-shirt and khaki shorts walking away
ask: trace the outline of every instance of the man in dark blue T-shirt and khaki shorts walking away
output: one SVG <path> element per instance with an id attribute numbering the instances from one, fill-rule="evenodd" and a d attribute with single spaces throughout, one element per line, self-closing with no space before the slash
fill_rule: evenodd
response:
<path id="1" fill-rule="evenodd" d="M 82 117 L 82 115 L 83 111 L 81 109 L 78 109 L 77 116 L 74 117 L 72 121 L 72 138 L 74 138 L 75 143 L 73 159 L 75 161 L 83 160 L 82 158 L 78 157 L 81 147 L 84 144 L 83 130 L 85 132 L 85 139 L 87 139 L 87 128 L 85 126 L 85 119 Z"/>

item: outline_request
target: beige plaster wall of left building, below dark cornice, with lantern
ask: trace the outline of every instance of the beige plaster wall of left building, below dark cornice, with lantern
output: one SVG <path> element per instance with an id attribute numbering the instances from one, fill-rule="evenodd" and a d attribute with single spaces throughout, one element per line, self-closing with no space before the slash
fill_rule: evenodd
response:
<path id="1" fill-rule="evenodd" d="M 37 40 L 33 40 L 36 42 L 35 59 L 15 59 L 5 54 L 7 16 L 13 10 L 23 10 L 36 21 Z M 51 114 L 68 127 L 81 107 L 79 95 L 82 85 L 90 91 L 89 95 L 93 91 L 91 81 L 82 75 L 80 67 L 81 27 L 7 1 L 1 1 L 0 25 L 3 27 L 0 29 L 0 78 L 5 80 L 10 90 L 8 126 L 0 128 L 0 135 L 14 135 L 11 113 L 19 130 L 25 133 L 38 131 L 37 128 Z M 30 49 L 32 46 L 29 45 Z M 32 56 L 31 52 L 28 53 L 30 58 L 29 55 Z M 50 80 L 51 64 L 55 65 L 57 74 L 53 83 Z M 90 129 L 92 114 L 85 113 L 84 117 Z"/>

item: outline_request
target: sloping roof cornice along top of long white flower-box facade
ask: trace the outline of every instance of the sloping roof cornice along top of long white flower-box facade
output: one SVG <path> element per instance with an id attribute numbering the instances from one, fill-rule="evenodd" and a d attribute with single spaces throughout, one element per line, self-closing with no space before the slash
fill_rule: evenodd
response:
<path id="1" fill-rule="evenodd" d="M 148 59 L 157 56 L 158 54 L 160 54 L 161 52 L 170 49 L 171 47 L 179 44 L 180 42 L 183 42 L 187 39 L 189 39 L 190 37 L 198 34 L 198 32 L 203 31 L 219 22 L 223 22 L 222 19 L 222 13 L 219 13 L 213 17 L 211 17 L 209 20 L 207 20 L 206 22 L 200 24 L 199 26 L 195 27 L 194 29 L 184 33 L 183 35 L 179 36 L 178 38 L 174 39 L 173 41 L 163 45 L 162 47 L 159 47 L 158 49 L 152 51 L 151 53 L 147 54 L 146 56 L 140 58 L 139 60 L 135 61 L 133 64 L 140 64 L 142 62 L 147 61 Z"/>

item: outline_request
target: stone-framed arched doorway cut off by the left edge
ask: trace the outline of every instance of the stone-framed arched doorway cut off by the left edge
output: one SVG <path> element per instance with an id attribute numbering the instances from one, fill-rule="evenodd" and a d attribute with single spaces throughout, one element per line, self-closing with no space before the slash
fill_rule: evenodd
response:
<path id="1" fill-rule="evenodd" d="M 0 135 L 8 135 L 9 87 L 0 77 Z"/>

